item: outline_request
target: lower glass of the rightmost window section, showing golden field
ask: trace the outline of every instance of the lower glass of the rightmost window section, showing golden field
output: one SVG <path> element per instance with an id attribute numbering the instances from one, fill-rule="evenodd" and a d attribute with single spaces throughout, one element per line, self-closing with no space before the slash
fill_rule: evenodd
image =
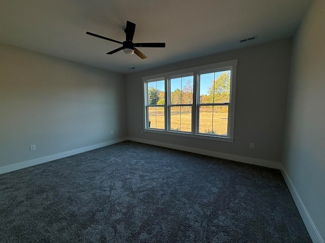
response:
<path id="1" fill-rule="evenodd" d="M 200 106 L 199 133 L 227 136 L 228 105 Z"/>

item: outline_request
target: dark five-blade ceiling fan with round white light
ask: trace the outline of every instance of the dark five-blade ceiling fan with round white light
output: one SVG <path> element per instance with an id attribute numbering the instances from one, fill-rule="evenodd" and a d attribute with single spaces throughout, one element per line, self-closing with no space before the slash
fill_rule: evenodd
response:
<path id="1" fill-rule="evenodd" d="M 123 50 L 125 54 L 132 55 L 133 53 L 135 53 L 138 57 L 145 59 L 147 57 L 142 52 L 140 52 L 136 47 L 165 47 L 166 46 L 165 43 L 133 43 L 132 40 L 133 40 L 135 30 L 136 30 L 136 24 L 130 21 L 126 21 L 126 28 L 124 29 L 126 35 L 125 42 L 115 41 L 115 39 L 107 38 L 102 35 L 94 34 L 88 31 L 86 32 L 86 34 L 99 37 L 102 39 L 107 39 L 107 41 L 111 41 L 123 45 L 120 48 L 117 48 L 113 51 L 106 53 L 110 55 Z"/>

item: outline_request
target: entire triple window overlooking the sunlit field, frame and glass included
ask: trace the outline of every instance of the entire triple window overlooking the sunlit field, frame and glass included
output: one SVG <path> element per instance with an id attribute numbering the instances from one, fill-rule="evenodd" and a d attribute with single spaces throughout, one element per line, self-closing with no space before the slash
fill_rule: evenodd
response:
<path id="1" fill-rule="evenodd" d="M 232 142 L 237 60 L 143 77 L 144 131 Z"/>

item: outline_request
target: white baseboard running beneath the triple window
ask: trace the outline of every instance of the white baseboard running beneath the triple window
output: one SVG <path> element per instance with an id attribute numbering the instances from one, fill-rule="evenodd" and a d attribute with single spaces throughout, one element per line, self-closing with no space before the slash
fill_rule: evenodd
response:
<path id="1" fill-rule="evenodd" d="M 178 150 L 182 150 L 182 151 L 186 151 L 186 152 L 198 153 L 198 154 L 208 155 L 208 156 L 217 157 L 217 158 L 224 158 L 224 159 L 234 160 L 234 161 L 238 161 L 238 162 L 242 162 L 242 163 L 246 163 L 246 164 L 264 166 L 264 167 L 268 167 L 268 168 L 272 168 L 272 169 L 278 169 L 278 170 L 282 169 L 281 163 L 275 162 L 275 161 L 270 161 L 270 160 L 249 158 L 249 157 L 233 155 L 233 154 L 228 154 L 228 153 L 220 153 L 220 152 L 215 152 L 215 151 L 210 151 L 210 150 L 204 150 L 204 149 L 199 149 L 199 148 L 193 148 L 193 147 L 187 147 L 187 146 L 182 146 L 182 145 L 163 143 L 163 142 L 157 142 L 157 141 L 153 141 L 153 140 L 146 140 L 146 139 L 133 138 L 133 137 L 127 137 L 127 140 L 161 146 L 161 147 L 166 147 L 166 148 L 178 149 Z"/>

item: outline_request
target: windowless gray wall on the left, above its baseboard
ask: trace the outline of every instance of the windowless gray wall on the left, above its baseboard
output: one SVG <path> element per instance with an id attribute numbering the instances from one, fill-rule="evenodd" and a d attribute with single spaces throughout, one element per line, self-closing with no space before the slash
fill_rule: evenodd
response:
<path id="1" fill-rule="evenodd" d="M 0 73 L 0 167 L 126 137 L 124 75 L 3 44 Z"/>

